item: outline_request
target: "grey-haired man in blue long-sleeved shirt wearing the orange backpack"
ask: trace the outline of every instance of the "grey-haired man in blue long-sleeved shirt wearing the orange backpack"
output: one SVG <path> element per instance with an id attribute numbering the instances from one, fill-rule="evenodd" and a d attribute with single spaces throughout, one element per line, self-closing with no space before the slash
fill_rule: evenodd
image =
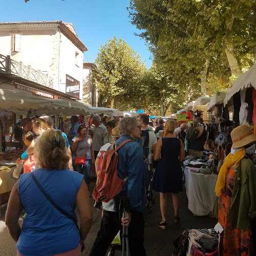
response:
<path id="1" fill-rule="evenodd" d="M 118 124 L 121 134 L 116 145 L 125 140 L 140 138 L 141 126 L 137 117 L 124 117 Z M 105 255 L 108 247 L 122 226 L 128 226 L 129 248 L 131 255 L 146 255 L 144 242 L 145 183 L 147 170 L 143 159 L 142 147 L 137 142 L 127 142 L 118 150 L 118 176 L 127 177 L 119 195 L 108 203 L 103 203 L 101 227 L 93 244 L 90 256 Z M 119 218 L 119 196 L 126 196 L 131 205 L 131 212 L 125 218 Z"/>

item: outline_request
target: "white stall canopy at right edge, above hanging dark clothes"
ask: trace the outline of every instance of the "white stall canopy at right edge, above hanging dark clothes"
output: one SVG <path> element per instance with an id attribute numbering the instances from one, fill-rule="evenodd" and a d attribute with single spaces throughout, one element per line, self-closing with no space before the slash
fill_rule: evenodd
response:
<path id="1" fill-rule="evenodd" d="M 232 88 L 226 93 L 224 106 L 235 93 L 248 87 L 254 87 L 256 89 L 256 63 L 254 63 L 254 65 L 249 70 L 241 74 L 237 78 L 236 82 L 234 82 Z"/>

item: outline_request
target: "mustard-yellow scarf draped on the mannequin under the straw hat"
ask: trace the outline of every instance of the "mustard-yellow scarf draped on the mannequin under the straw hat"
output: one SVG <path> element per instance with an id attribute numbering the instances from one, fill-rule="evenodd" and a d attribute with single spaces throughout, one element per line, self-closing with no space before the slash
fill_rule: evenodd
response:
<path id="1" fill-rule="evenodd" d="M 233 165 L 239 164 L 239 162 L 245 157 L 245 155 L 246 150 L 244 147 L 242 151 L 238 151 L 234 155 L 232 155 L 231 153 L 227 155 L 227 157 L 225 158 L 225 163 L 221 166 L 218 180 L 215 186 L 215 193 L 217 197 L 221 196 L 221 193 L 225 187 L 226 174 L 228 172 L 228 169 Z"/>

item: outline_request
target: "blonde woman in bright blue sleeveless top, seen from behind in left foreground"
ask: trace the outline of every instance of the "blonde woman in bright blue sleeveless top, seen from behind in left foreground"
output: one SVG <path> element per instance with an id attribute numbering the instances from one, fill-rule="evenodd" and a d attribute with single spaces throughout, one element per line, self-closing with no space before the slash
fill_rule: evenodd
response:
<path id="1" fill-rule="evenodd" d="M 69 156 L 59 130 L 47 130 L 38 137 L 34 152 L 40 168 L 20 176 L 6 212 L 6 226 L 17 243 L 17 255 L 80 256 L 81 245 L 92 225 L 83 176 L 67 169 Z M 32 175 L 62 212 L 47 199 Z M 81 220 L 80 232 L 75 223 L 76 207 Z M 18 219 L 23 208 L 26 215 L 20 228 Z"/>

